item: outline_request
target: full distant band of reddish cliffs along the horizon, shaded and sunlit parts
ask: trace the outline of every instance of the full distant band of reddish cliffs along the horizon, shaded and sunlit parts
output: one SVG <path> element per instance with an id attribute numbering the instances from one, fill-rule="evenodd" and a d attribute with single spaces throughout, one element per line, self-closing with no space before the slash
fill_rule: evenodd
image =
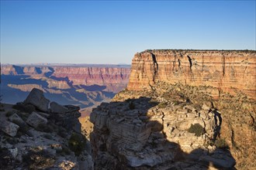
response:
<path id="1" fill-rule="evenodd" d="M 123 90 L 128 83 L 130 76 L 129 67 L 119 66 L 2 66 L 4 75 L 28 75 L 33 78 L 52 76 L 57 80 L 68 80 L 73 85 L 99 85 L 106 86 L 106 91 L 114 93 Z M 56 87 L 56 81 L 47 81 L 50 87 Z M 64 82 L 62 82 L 63 84 Z M 61 88 L 67 89 L 68 85 L 63 84 Z"/>

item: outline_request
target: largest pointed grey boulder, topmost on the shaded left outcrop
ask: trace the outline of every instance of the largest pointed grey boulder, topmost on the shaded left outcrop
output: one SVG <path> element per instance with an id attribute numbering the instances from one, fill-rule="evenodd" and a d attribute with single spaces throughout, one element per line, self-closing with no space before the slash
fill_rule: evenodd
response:
<path id="1" fill-rule="evenodd" d="M 42 90 L 33 88 L 23 103 L 33 104 L 33 106 L 35 106 L 37 109 L 42 110 L 43 112 L 47 112 L 50 100 L 44 97 Z"/>

